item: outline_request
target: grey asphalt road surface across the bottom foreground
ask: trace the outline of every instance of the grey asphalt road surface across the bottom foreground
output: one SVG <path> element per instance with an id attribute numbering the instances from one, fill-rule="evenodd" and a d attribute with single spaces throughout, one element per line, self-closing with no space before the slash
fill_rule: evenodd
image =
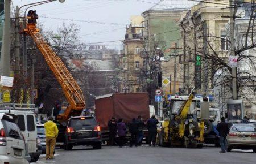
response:
<path id="1" fill-rule="evenodd" d="M 138 148 L 125 146 L 109 147 L 103 146 L 101 150 L 93 150 L 85 146 L 77 146 L 71 151 L 56 150 L 54 161 L 46 161 L 40 158 L 33 164 L 44 163 L 61 163 L 61 164 L 80 164 L 80 163 L 97 163 L 97 164 L 138 164 L 138 163 L 232 163 L 245 164 L 255 163 L 256 154 L 250 150 L 232 150 L 230 153 L 219 153 L 220 148 L 204 147 L 202 149 L 185 149 L 185 148 L 161 148 L 156 146 L 148 147 L 146 145 Z"/>

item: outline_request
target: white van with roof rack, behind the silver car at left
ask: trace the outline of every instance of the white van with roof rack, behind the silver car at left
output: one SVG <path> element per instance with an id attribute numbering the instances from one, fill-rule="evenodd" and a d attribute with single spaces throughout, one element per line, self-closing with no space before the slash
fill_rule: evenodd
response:
<path id="1" fill-rule="evenodd" d="M 35 113 L 33 111 L 23 110 L 0 110 L 0 113 L 12 113 L 18 116 L 18 127 L 28 144 L 28 154 L 30 154 L 31 162 L 38 160 L 40 154 L 37 152 L 37 129 Z M 35 159 L 35 160 L 33 160 Z"/>

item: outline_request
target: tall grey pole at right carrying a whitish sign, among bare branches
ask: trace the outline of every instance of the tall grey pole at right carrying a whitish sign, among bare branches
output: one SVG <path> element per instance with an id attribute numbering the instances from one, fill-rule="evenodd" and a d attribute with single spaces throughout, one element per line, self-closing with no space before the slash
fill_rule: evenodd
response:
<path id="1" fill-rule="evenodd" d="M 233 8 L 233 0 L 229 0 L 229 6 L 230 6 L 230 55 L 235 56 L 235 44 L 234 44 L 234 8 Z M 233 93 L 233 99 L 237 99 L 237 68 L 232 67 L 232 93 Z"/>

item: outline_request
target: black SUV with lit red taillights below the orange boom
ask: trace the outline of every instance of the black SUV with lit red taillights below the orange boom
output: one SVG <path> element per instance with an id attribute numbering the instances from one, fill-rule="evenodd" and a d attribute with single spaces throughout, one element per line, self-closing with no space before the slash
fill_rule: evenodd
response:
<path id="1" fill-rule="evenodd" d="M 74 145 L 92 145 L 101 149 L 101 128 L 93 116 L 76 116 L 68 120 L 65 131 L 65 150 Z"/>

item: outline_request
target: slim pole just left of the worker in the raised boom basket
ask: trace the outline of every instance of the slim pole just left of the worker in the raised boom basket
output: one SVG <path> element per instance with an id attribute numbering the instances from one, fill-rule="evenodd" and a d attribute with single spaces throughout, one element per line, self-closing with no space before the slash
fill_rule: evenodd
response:
<path id="1" fill-rule="evenodd" d="M 19 7 L 16 6 L 16 15 L 15 15 L 15 60 L 16 74 L 19 74 L 20 70 L 20 38 L 19 38 Z"/>

